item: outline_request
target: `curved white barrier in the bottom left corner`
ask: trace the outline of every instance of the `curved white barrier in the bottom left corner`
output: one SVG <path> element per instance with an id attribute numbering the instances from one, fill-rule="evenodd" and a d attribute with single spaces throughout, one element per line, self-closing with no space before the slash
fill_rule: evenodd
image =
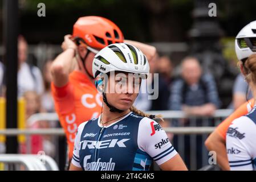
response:
<path id="1" fill-rule="evenodd" d="M 15 171 L 59 171 L 56 162 L 50 156 L 26 154 L 0 154 L 2 170 Z"/>

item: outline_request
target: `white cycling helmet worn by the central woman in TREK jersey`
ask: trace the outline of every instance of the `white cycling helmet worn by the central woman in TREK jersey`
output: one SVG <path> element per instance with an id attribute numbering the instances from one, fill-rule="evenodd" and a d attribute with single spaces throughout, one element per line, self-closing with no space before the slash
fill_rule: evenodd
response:
<path id="1" fill-rule="evenodd" d="M 100 50 L 92 63 L 94 78 L 99 73 L 122 71 L 148 75 L 149 63 L 143 52 L 127 43 L 111 44 Z"/>

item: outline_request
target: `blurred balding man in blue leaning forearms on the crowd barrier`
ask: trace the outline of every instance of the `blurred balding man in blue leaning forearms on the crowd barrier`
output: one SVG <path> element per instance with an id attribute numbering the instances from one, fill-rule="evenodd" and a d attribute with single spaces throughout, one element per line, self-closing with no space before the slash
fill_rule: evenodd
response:
<path id="1" fill-rule="evenodd" d="M 216 83 L 212 75 L 202 74 L 199 61 L 195 57 L 186 57 L 181 63 L 181 78 L 173 82 L 169 100 L 170 110 L 183 110 L 188 115 L 210 116 L 220 106 Z M 180 119 L 176 121 L 179 126 L 202 126 L 203 120 Z M 174 124 L 175 125 L 175 124 Z M 174 135 L 173 145 L 177 150 L 184 150 L 184 161 L 190 168 L 190 144 L 189 135 L 184 136 L 184 148 L 177 147 L 178 138 Z M 196 136 L 197 168 L 201 168 L 206 161 L 202 161 L 202 151 L 206 148 L 202 145 L 202 136 Z M 203 148 L 204 147 L 204 148 Z"/>

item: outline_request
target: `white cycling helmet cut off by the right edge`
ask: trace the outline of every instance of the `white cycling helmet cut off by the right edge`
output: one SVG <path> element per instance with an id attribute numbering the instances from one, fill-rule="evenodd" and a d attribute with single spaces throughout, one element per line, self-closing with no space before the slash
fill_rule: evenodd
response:
<path id="1" fill-rule="evenodd" d="M 242 28 L 235 38 L 235 53 L 238 60 L 247 59 L 256 53 L 256 20 Z"/>

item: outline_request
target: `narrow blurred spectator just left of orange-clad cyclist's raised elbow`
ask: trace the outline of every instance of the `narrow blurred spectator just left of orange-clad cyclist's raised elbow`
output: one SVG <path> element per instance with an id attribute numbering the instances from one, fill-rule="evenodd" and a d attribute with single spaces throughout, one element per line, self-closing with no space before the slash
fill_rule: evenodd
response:
<path id="1" fill-rule="evenodd" d="M 43 82 L 44 82 L 44 92 L 41 96 L 43 110 L 52 113 L 54 112 L 54 100 L 51 95 L 51 68 L 52 60 L 47 60 L 43 67 Z"/>

